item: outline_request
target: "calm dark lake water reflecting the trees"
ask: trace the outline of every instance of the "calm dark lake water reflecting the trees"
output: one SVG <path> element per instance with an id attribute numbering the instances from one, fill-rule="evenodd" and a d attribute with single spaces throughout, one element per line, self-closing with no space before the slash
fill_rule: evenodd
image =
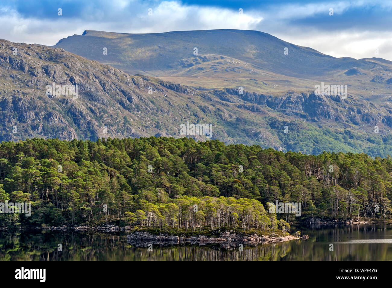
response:
<path id="1" fill-rule="evenodd" d="M 392 225 L 296 228 L 307 241 L 226 249 L 220 245 L 136 248 L 124 233 L 0 231 L 4 260 L 392 260 Z M 63 250 L 58 251 L 58 244 Z M 329 251 L 330 244 L 334 251 Z"/>

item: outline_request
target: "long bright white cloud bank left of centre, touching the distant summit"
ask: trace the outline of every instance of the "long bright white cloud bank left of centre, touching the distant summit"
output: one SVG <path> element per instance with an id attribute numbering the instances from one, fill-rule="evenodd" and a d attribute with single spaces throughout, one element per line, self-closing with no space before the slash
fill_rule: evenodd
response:
<path id="1" fill-rule="evenodd" d="M 127 2 L 117 2 L 125 7 Z M 118 8 L 118 7 L 117 7 Z M 165 1 L 152 7 L 152 16 L 148 15 L 150 5 L 134 2 L 128 16 L 115 17 L 116 21 L 85 21 L 58 16 L 54 20 L 23 18 L 15 10 L 8 9 L 2 13 L 0 37 L 12 42 L 38 43 L 54 45 L 61 38 L 81 34 L 85 29 L 122 32 L 122 33 L 161 33 L 179 30 L 200 29 L 254 29 L 263 18 L 258 15 L 243 14 L 219 7 L 200 7 L 183 5 L 180 2 Z M 85 8 L 84 10 L 89 10 Z M 117 11 L 117 10 L 116 10 Z M 108 13 L 115 13 L 111 11 Z M 83 14 L 89 13 L 83 11 Z M 90 11 L 94 17 L 102 19 L 101 11 Z M 5 15 L 4 15 L 5 14 Z M 64 10 L 63 10 L 64 15 Z M 107 15 L 106 15 L 107 17 Z"/>

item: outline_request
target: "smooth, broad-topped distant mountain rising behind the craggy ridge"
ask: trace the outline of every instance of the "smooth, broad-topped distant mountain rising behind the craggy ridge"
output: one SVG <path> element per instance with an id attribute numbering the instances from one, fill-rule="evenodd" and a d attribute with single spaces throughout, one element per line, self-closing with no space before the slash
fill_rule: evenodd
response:
<path id="1" fill-rule="evenodd" d="M 246 91 L 279 94 L 311 91 L 325 82 L 348 85 L 351 95 L 376 102 L 392 91 L 392 80 L 388 82 L 392 77 L 390 61 L 335 58 L 260 31 L 126 34 L 85 30 L 53 47 L 127 73 L 142 73 L 201 90 L 241 86 Z"/>

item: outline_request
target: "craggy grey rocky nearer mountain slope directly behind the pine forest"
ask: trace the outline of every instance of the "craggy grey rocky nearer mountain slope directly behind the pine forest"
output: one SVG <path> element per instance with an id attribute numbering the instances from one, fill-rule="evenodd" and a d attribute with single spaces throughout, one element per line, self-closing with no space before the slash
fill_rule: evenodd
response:
<path id="1" fill-rule="evenodd" d="M 389 65 L 377 59 L 361 61 L 360 71 L 367 71 L 365 66 L 371 62 Z M 0 77 L 1 141 L 33 137 L 209 139 L 181 134 L 181 125 L 189 122 L 211 124 L 211 139 L 226 144 L 260 144 L 312 154 L 323 150 L 392 154 L 392 109 L 386 96 L 380 104 L 350 93 L 343 99 L 306 89 L 281 93 L 245 89 L 242 94 L 230 87 L 196 89 L 129 75 L 62 48 L 7 40 L 0 40 Z M 60 95 L 47 93 L 53 83 L 63 88 L 78 85 L 77 97 L 61 91 Z"/>

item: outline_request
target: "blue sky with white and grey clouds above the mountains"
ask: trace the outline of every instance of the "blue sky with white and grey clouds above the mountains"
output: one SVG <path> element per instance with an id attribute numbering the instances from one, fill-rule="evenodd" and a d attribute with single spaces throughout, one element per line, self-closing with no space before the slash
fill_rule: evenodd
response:
<path id="1" fill-rule="evenodd" d="M 0 0 L 0 38 L 12 42 L 204 29 L 257 30 L 334 57 L 392 60 L 392 0 Z"/>

